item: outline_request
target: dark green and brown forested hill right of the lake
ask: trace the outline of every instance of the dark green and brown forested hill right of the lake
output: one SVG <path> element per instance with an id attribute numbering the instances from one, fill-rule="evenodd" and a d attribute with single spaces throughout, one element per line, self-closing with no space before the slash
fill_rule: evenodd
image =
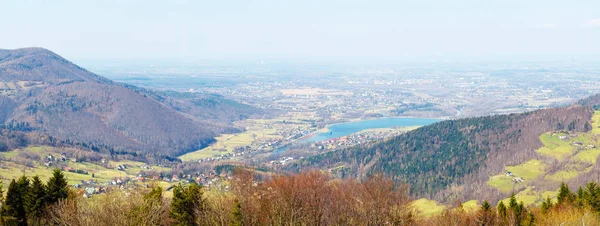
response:
<path id="1" fill-rule="evenodd" d="M 590 130 L 588 121 L 599 103 L 596 95 L 567 107 L 442 121 L 386 141 L 304 158 L 289 170 L 329 169 L 342 177 L 383 173 L 408 182 L 418 196 L 443 194 L 450 185 L 472 193 L 490 172 L 535 155 L 542 133 Z"/>

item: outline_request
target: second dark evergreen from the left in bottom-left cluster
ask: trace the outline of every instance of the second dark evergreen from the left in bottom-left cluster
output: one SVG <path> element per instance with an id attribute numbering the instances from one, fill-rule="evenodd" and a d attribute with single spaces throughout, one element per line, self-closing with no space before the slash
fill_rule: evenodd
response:
<path id="1" fill-rule="evenodd" d="M 34 176 L 31 181 L 26 204 L 27 215 L 32 220 L 37 221 L 42 218 L 46 207 L 46 187 L 38 176 Z"/>

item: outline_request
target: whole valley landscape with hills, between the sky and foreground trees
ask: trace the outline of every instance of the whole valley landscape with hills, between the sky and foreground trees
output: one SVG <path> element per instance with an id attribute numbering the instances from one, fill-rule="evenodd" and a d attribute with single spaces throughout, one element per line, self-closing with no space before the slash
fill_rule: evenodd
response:
<path id="1" fill-rule="evenodd" d="M 261 178 L 319 170 L 410 185 L 407 205 L 427 218 L 477 212 L 481 200 L 509 202 L 511 194 L 537 208 L 557 201 L 562 182 L 582 186 L 600 171 L 598 95 L 480 111 L 491 105 L 370 80 L 321 86 L 276 77 L 185 90 L 175 82 L 171 90 L 153 78 L 146 87 L 113 82 L 43 49 L 15 53 L 4 59 L 12 77 L 2 78 L 0 96 L 4 187 L 22 175 L 47 181 L 58 168 L 92 200 L 150 187 L 171 197 L 182 184 L 229 197 L 236 170 Z M 56 74 L 40 81 L 19 71 L 28 58 L 46 62 L 33 70 Z M 71 74 L 47 72 L 64 68 Z"/>

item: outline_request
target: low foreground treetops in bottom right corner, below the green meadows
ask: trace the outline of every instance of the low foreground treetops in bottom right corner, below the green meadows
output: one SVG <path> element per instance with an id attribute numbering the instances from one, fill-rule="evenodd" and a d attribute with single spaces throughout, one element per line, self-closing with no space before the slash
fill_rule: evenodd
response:
<path id="1" fill-rule="evenodd" d="M 432 217 L 422 225 L 600 225 L 600 186 L 589 182 L 575 192 L 562 183 L 556 199 L 546 197 L 540 206 L 524 206 L 513 194 L 508 203 L 493 207 L 484 201 L 475 212 L 462 206 Z"/>

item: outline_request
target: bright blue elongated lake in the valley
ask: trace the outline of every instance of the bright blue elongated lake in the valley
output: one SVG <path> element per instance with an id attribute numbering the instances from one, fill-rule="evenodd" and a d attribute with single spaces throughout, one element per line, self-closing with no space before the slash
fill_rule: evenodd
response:
<path id="1" fill-rule="evenodd" d="M 329 129 L 329 132 L 317 134 L 311 138 L 306 139 L 305 142 L 319 142 L 337 137 L 348 136 L 350 134 L 366 129 L 380 129 L 402 126 L 425 126 L 439 121 L 440 120 L 438 119 L 428 118 L 380 118 L 373 120 L 339 123 L 327 127 L 327 129 Z"/>

